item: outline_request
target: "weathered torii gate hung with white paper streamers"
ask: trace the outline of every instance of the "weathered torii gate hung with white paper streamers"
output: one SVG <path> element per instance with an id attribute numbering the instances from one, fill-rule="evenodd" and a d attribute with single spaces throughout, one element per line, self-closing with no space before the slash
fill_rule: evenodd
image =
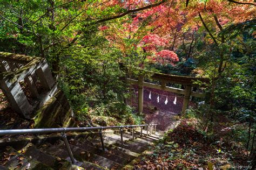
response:
<path id="1" fill-rule="evenodd" d="M 207 84 L 210 82 L 208 78 L 204 78 L 204 77 L 178 76 L 178 75 L 171 75 L 171 74 L 153 73 L 147 70 L 143 70 L 143 71 L 152 73 L 153 75 L 151 76 L 151 79 L 160 81 L 161 85 L 144 82 L 144 76 L 139 76 L 138 80 L 127 79 L 127 82 L 138 85 L 138 112 L 139 113 L 143 112 L 143 86 L 164 90 L 164 91 L 171 91 L 173 93 L 184 95 L 183 107 L 181 111 L 181 113 L 184 114 L 186 109 L 188 108 L 190 96 L 201 97 L 201 98 L 205 97 L 205 93 L 191 91 L 192 87 L 199 87 L 199 85 L 196 84 L 195 82 L 201 81 Z M 166 82 L 182 84 L 183 86 L 185 86 L 185 90 L 174 88 L 174 87 L 168 87 L 166 86 Z"/>

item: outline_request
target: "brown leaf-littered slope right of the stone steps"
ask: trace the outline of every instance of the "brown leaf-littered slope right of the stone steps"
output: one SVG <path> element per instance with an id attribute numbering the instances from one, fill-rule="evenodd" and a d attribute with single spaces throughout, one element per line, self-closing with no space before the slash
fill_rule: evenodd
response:
<path id="1" fill-rule="evenodd" d="M 134 168 L 252 168 L 247 164 L 248 153 L 238 143 L 207 136 L 192 124 L 191 120 L 183 119 L 165 133 L 163 140 L 152 145 Z"/>

